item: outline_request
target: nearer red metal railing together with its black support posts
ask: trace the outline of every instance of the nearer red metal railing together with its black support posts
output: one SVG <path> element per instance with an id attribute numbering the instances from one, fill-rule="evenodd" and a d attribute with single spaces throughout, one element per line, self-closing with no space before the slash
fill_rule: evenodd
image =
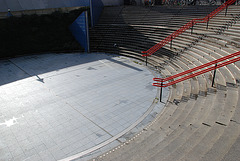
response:
<path id="1" fill-rule="evenodd" d="M 160 102 L 162 100 L 162 87 L 168 87 L 168 86 L 171 86 L 173 84 L 176 84 L 176 83 L 179 83 L 179 82 L 182 82 L 184 80 L 187 80 L 187 79 L 190 79 L 190 78 L 193 78 L 193 77 L 196 77 L 198 75 L 201 75 L 201 74 L 204 74 L 204 73 L 207 73 L 209 71 L 212 71 L 214 70 L 214 75 L 213 75 L 213 80 L 212 80 L 212 87 L 214 85 L 214 79 L 215 79 L 215 75 L 216 75 L 216 69 L 218 68 L 221 68 L 221 67 L 224 67 L 226 65 L 229 65 L 229 64 L 232 64 L 232 63 L 235 63 L 237 61 L 240 61 L 240 57 L 237 57 L 240 55 L 240 51 L 239 52 L 236 52 L 236 53 L 233 53 L 233 54 L 230 54 L 230 55 L 227 55 L 225 57 L 222 57 L 222 58 L 219 58 L 219 59 L 216 59 L 214 61 L 211 61 L 211 62 L 208 62 L 206 64 L 203 64 L 203 65 L 200 65 L 198 67 L 195 67 L 195 68 L 192 68 L 192 69 L 189 69 L 189 70 L 186 70 L 184 72 L 181 72 L 181 73 L 178 73 L 176 75 L 173 75 L 173 76 L 170 76 L 170 77 L 167 77 L 167 78 L 153 78 L 154 81 L 157 81 L 157 83 L 153 83 L 153 86 L 156 86 L 156 87 L 161 87 L 161 91 L 160 91 Z M 234 58 L 235 57 L 235 58 Z M 231 60 L 229 60 L 231 59 Z M 226 60 L 226 61 L 225 61 Z M 211 65 L 214 65 L 214 66 L 211 66 Z M 211 67 L 209 67 L 211 66 Z M 206 68 L 206 69 L 203 69 L 203 68 Z M 203 70 L 200 70 L 200 69 L 203 69 Z M 195 72 L 197 70 L 200 70 L 196 73 L 192 73 L 192 72 Z M 189 74 L 187 76 L 184 76 L 186 74 Z M 175 78 L 178 78 L 180 76 L 184 76 L 182 78 L 179 78 L 179 79 L 175 79 Z M 175 80 L 173 80 L 175 79 Z M 172 80 L 172 81 L 171 81 Z M 164 83 L 164 82 L 167 82 L 168 83 Z"/>

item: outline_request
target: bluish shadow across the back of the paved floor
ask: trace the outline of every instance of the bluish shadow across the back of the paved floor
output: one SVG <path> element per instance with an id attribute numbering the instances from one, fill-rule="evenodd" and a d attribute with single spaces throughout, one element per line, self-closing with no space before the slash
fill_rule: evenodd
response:
<path id="1" fill-rule="evenodd" d="M 64 68 L 91 63 L 98 60 L 113 60 L 113 54 L 41 54 L 0 60 L 0 86 L 34 77 L 44 83 L 41 74 Z M 123 64 L 124 65 L 124 64 Z"/>

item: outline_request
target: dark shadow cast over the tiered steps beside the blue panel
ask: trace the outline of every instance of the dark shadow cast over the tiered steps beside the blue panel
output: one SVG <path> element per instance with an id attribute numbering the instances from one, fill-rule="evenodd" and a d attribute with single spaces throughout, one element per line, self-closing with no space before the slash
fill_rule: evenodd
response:
<path id="1" fill-rule="evenodd" d="M 153 7 L 154 8 L 154 7 Z M 149 19 L 149 12 L 153 9 L 139 6 L 105 7 L 99 24 L 91 29 L 91 51 L 127 55 L 142 61 L 142 51 L 161 41 L 158 37 L 153 40 L 154 32 L 163 29 L 146 28 L 144 19 Z M 151 17 L 150 17 L 151 18 Z M 154 21 L 152 23 L 154 25 Z M 166 31 L 162 31 L 166 34 Z M 168 36 L 168 35 L 166 35 Z M 164 39 L 164 38 L 163 38 Z M 161 50 L 163 55 L 174 56 L 167 49 Z"/>

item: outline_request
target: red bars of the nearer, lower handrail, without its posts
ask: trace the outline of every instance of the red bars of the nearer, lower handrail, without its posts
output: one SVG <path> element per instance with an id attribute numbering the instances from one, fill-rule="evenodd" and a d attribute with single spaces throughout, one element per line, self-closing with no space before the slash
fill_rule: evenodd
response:
<path id="1" fill-rule="evenodd" d="M 168 87 L 168 86 L 171 86 L 171 85 L 173 85 L 173 84 L 182 82 L 182 81 L 184 81 L 184 80 L 193 78 L 193 77 L 195 77 L 195 76 L 204 74 L 204 73 L 206 73 L 206 72 L 209 72 L 209 71 L 212 71 L 212 70 L 215 70 L 215 69 L 224 67 L 224 66 L 226 66 L 226 65 L 229 65 L 229 64 L 232 64 L 232 63 L 234 63 L 234 62 L 240 61 L 240 57 L 234 58 L 234 59 L 232 59 L 232 60 L 225 61 L 225 62 L 223 62 L 223 63 L 221 63 L 221 64 L 217 64 L 217 63 L 222 62 L 222 61 L 224 61 L 224 60 L 226 60 L 226 59 L 229 59 L 229 58 L 233 58 L 234 56 L 238 56 L 238 55 L 240 55 L 240 51 L 239 51 L 239 52 L 236 52 L 236 53 L 234 53 L 234 54 L 231 54 L 231 55 L 222 57 L 222 58 L 220 58 L 220 59 L 211 61 L 211 62 L 206 63 L 206 64 L 204 64 L 204 65 L 200 65 L 200 66 L 198 66 L 198 67 L 196 67 L 196 68 L 187 70 L 187 71 L 185 71 L 185 72 L 176 74 L 176 75 L 174 75 L 174 76 L 170 76 L 170 77 L 165 78 L 165 79 L 153 78 L 154 81 L 161 82 L 161 83 L 153 83 L 153 86 L 156 86 L 156 87 Z M 165 82 L 165 81 L 171 80 L 171 79 L 173 79 L 173 78 L 177 78 L 177 77 L 179 77 L 179 76 L 182 76 L 182 75 L 191 73 L 191 72 L 193 72 L 193 71 L 202 69 L 202 68 L 204 68 L 204 67 L 207 67 L 207 66 L 210 66 L 210 65 L 213 65 L 213 64 L 217 64 L 217 65 L 216 65 L 216 66 L 209 67 L 209 68 L 204 69 L 204 70 L 201 70 L 201 71 L 199 71 L 199 72 L 196 72 L 196 73 L 187 75 L 187 76 L 182 77 L 182 78 L 179 78 L 179 79 L 177 79 L 177 80 L 168 82 L 168 83 L 166 83 L 166 84 L 163 84 L 163 82 Z"/>

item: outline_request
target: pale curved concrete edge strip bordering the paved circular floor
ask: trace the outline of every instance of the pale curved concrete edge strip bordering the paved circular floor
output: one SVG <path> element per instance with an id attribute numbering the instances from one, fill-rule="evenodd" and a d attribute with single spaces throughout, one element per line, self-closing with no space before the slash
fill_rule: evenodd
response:
<path id="1" fill-rule="evenodd" d="M 147 69 L 148 69 L 150 72 L 152 72 L 152 74 L 153 74 L 154 77 L 156 76 L 156 74 L 154 73 L 154 70 L 153 70 L 153 69 L 150 69 L 150 68 L 148 68 L 148 67 L 147 67 Z M 170 92 L 169 92 L 169 94 L 168 94 L 168 99 L 167 99 L 167 100 L 169 100 L 169 97 L 170 97 L 170 94 L 171 94 L 171 90 L 169 90 L 169 91 L 170 91 Z M 158 97 L 159 92 L 160 92 L 160 89 L 157 89 L 156 97 Z M 155 98 L 156 98 L 156 97 L 155 97 Z M 87 154 L 92 153 L 92 152 L 94 152 L 94 151 L 96 151 L 96 150 L 99 150 L 99 149 L 103 148 L 104 146 L 106 146 L 106 145 L 108 145 L 108 144 L 116 141 L 117 139 L 121 138 L 121 137 L 124 136 L 126 133 L 128 133 L 129 131 L 131 131 L 132 129 L 134 129 L 139 123 L 141 123 L 141 122 L 153 111 L 153 109 L 155 108 L 155 106 L 156 106 L 157 103 L 158 103 L 158 102 L 156 102 L 156 99 L 155 99 L 155 98 L 153 99 L 153 102 L 152 102 L 151 106 L 148 108 L 148 110 L 147 110 L 137 121 L 135 121 L 131 126 L 129 126 L 128 128 L 126 128 L 125 130 L 123 130 L 121 133 L 119 133 L 119 134 L 113 136 L 112 138 L 110 138 L 110 139 L 108 139 L 108 140 L 100 143 L 99 145 L 96 145 L 96 146 L 94 146 L 94 147 L 92 147 L 92 148 L 90 148 L 90 149 L 87 149 L 87 150 L 82 151 L 82 152 L 80 152 L 80 153 L 78 153 L 78 154 L 72 155 L 72 156 L 70 156 L 70 157 L 67 157 L 67 158 L 64 158 L 64 159 L 60 159 L 59 161 L 72 161 L 72 160 L 75 160 L 75 159 L 82 158 L 82 157 L 86 156 Z M 167 101 L 166 105 L 167 105 L 167 104 L 168 104 L 168 101 Z M 164 106 L 164 108 L 166 107 L 166 105 Z M 154 118 L 154 120 L 157 119 L 158 116 L 161 116 L 161 115 L 162 115 L 162 113 L 163 113 L 163 111 L 164 111 L 164 108 L 163 108 L 163 109 L 161 110 L 161 112 L 156 116 L 156 118 Z M 152 121 L 154 121 L 154 120 L 152 120 Z"/>

